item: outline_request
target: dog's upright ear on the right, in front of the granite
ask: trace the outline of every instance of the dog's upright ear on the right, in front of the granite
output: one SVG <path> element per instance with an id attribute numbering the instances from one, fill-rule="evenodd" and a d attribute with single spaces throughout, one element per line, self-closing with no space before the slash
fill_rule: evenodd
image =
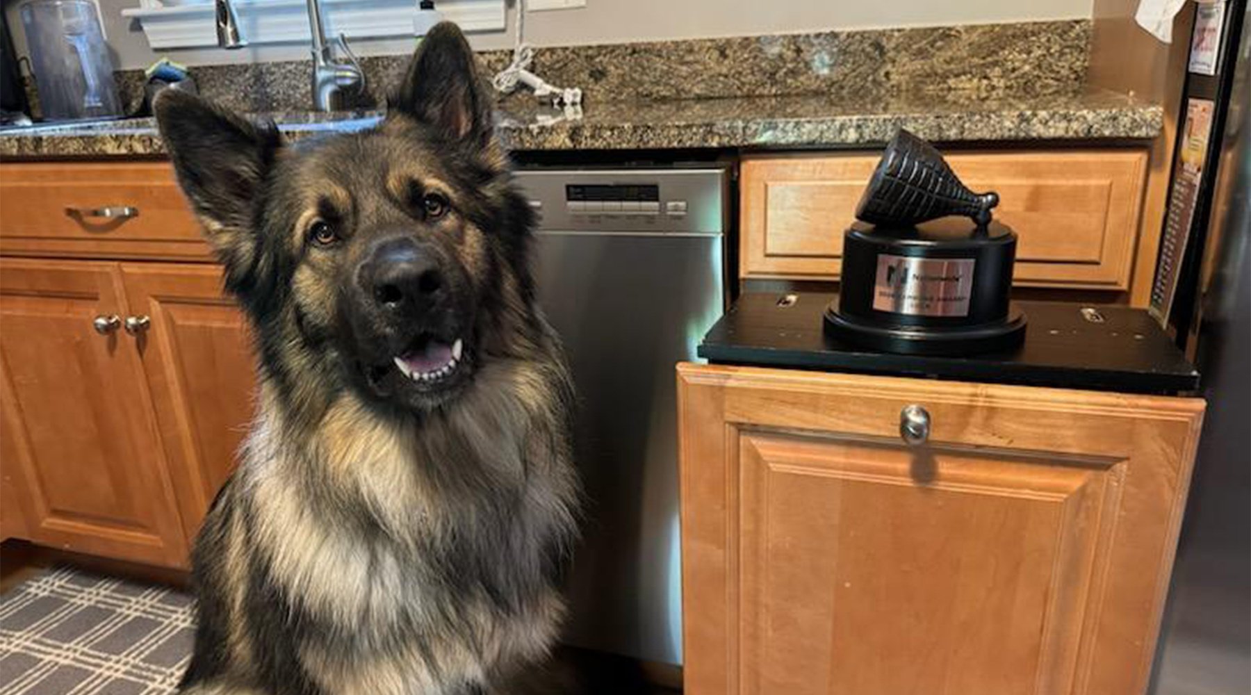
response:
<path id="1" fill-rule="evenodd" d="M 460 28 L 442 21 L 430 29 L 390 106 L 453 141 L 483 144 L 490 138 L 490 95 Z"/>

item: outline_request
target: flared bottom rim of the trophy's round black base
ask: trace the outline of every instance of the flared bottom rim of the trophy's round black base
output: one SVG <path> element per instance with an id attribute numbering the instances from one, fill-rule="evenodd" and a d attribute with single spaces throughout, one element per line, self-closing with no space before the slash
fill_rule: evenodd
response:
<path id="1" fill-rule="evenodd" d="M 831 302 L 826 334 L 868 350 L 897 355 L 973 355 L 1010 350 L 1025 340 L 1025 312 L 1015 304 L 1001 322 L 973 326 L 894 326 L 867 324 L 838 314 Z"/>

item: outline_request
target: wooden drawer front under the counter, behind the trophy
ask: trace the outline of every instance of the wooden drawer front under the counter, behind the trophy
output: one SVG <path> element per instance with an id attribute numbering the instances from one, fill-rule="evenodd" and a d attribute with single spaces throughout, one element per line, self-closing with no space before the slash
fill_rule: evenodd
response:
<path id="1" fill-rule="evenodd" d="M 743 278 L 838 278 L 843 231 L 878 155 L 743 161 Z M 952 169 L 996 190 L 996 218 L 1020 235 L 1026 286 L 1126 289 L 1147 155 L 1137 150 L 957 152 Z"/>

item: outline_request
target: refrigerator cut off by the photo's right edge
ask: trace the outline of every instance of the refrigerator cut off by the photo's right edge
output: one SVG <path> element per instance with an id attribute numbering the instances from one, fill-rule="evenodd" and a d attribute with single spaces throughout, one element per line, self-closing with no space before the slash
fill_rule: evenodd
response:
<path id="1" fill-rule="evenodd" d="M 1225 9 L 1227 45 L 1217 64 L 1200 64 L 1216 80 L 1193 79 L 1192 70 L 1198 84 L 1187 85 L 1187 96 L 1207 96 L 1217 118 L 1203 176 L 1193 181 L 1196 226 L 1185 258 L 1178 250 L 1177 269 L 1188 271 L 1158 316 L 1198 366 L 1208 405 L 1155 695 L 1251 692 L 1251 20 L 1241 4 Z M 1183 174 L 1175 169 L 1173 178 Z"/>

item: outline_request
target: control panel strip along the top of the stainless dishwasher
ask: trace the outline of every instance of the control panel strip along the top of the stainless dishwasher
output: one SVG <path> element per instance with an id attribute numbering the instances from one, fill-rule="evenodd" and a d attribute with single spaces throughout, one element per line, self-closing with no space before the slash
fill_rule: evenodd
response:
<path id="1" fill-rule="evenodd" d="M 522 169 L 517 181 L 544 231 L 724 232 L 723 168 Z"/>

